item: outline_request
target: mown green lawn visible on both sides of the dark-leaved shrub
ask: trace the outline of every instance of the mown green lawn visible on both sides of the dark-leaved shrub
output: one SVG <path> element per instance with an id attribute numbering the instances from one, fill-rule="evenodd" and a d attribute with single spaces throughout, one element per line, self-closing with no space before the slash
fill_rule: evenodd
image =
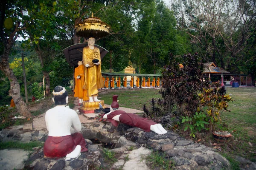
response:
<path id="1" fill-rule="evenodd" d="M 232 94 L 234 101 L 229 102 L 230 112 L 221 113 L 221 125 L 223 130 L 229 130 L 234 137 L 232 141 L 221 146 L 222 153 L 242 156 L 255 162 L 256 88 L 227 88 L 227 94 Z M 151 98 L 160 98 L 159 89 L 115 89 L 100 92 L 99 99 L 110 105 L 113 95 L 118 95 L 120 107 L 141 111 L 144 104 L 148 109 L 151 108 Z M 206 137 L 205 143 L 209 144 L 210 140 L 213 141 L 212 136 Z"/>

